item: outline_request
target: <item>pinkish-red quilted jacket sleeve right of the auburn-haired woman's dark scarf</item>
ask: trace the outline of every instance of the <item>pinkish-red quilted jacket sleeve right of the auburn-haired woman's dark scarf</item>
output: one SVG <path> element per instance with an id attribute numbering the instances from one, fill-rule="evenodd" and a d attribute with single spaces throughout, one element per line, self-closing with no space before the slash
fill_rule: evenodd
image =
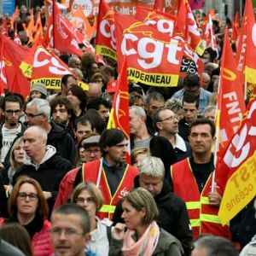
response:
<path id="1" fill-rule="evenodd" d="M 51 224 L 44 220 L 44 227 L 32 237 L 32 251 L 34 256 L 49 256 L 54 253 L 50 239 Z"/>

